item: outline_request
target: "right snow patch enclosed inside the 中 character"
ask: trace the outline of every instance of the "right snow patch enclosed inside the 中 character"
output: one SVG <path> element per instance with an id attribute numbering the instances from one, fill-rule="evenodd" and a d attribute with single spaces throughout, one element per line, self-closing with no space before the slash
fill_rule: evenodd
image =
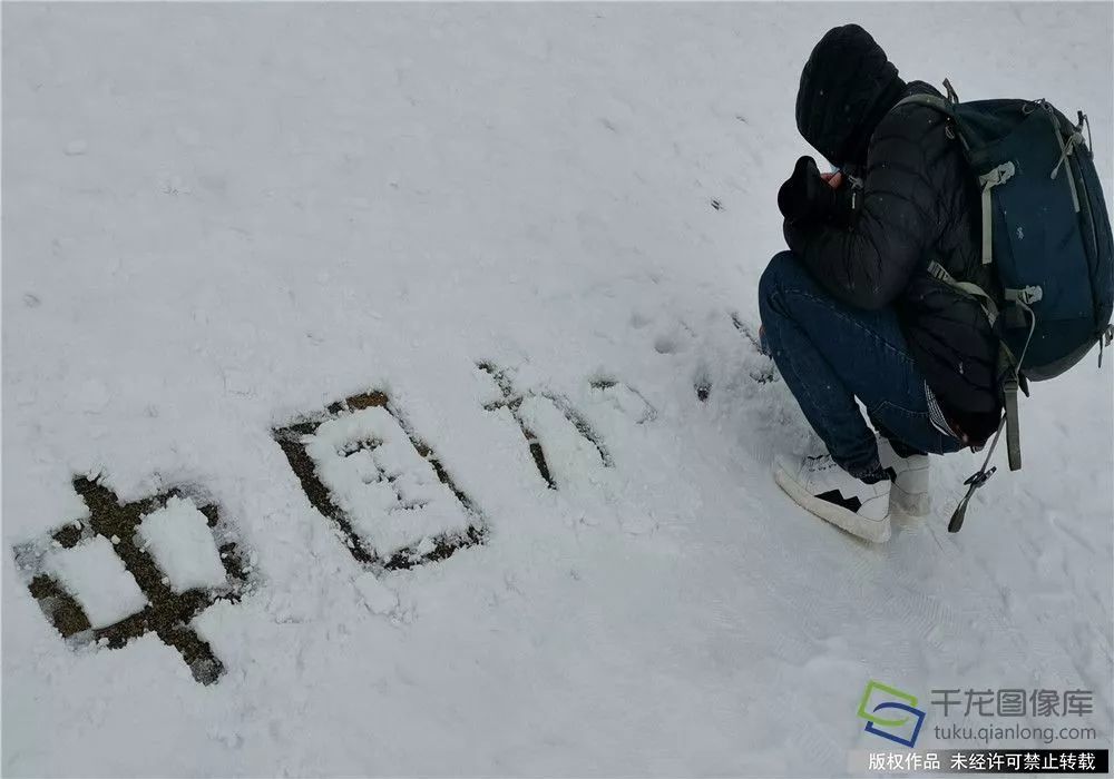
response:
<path id="1" fill-rule="evenodd" d="M 227 583 L 208 522 L 193 500 L 172 496 L 143 519 L 139 535 L 175 592 Z"/>

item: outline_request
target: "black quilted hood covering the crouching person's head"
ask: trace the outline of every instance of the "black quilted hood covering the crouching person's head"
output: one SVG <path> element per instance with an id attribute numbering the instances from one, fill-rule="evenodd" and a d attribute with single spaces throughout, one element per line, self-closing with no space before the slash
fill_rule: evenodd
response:
<path id="1" fill-rule="evenodd" d="M 871 134 L 905 89 L 869 32 L 858 24 L 832 28 L 801 72 L 797 128 L 832 165 L 862 165 Z"/>

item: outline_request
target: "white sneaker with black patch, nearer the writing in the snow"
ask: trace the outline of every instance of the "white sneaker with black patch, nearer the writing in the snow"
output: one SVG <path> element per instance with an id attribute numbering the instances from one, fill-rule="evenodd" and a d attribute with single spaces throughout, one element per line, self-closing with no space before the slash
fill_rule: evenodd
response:
<path id="1" fill-rule="evenodd" d="M 890 481 L 856 479 L 831 455 L 789 457 L 773 463 L 778 485 L 801 506 L 860 539 L 881 543 L 890 538 Z"/>

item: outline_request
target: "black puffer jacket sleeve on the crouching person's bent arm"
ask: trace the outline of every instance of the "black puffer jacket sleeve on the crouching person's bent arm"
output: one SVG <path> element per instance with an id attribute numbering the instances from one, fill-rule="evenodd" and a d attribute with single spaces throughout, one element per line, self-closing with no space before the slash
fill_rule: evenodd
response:
<path id="1" fill-rule="evenodd" d="M 921 268 L 939 210 L 925 141 L 942 132 L 941 124 L 928 108 L 893 109 L 870 141 L 862 206 L 852 224 L 785 224 L 789 248 L 833 297 L 858 308 L 881 308 Z"/>

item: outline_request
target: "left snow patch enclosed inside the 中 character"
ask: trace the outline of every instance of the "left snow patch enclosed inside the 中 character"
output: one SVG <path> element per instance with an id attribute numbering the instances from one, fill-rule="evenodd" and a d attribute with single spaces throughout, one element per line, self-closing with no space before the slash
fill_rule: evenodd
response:
<path id="1" fill-rule="evenodd" d="M 43 569 L 77 599 L 94 628 L 115 624 L 147 605 L 146 595 L 113 552 L 113 544 L 99 536 L 51 552 Z"/>

